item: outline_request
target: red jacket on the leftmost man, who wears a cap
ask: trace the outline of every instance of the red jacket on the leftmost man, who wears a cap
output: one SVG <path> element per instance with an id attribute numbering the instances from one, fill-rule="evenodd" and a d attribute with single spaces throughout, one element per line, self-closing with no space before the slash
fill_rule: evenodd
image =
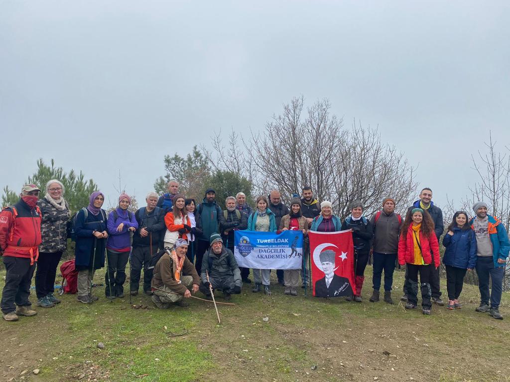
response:
<path id="1" fill-rule="evenodd" d="M 0 212 L 0 249 L 4 256 L 26 257 L 30 264 L 39 257 L 41 211 L 19 200 Z"/>

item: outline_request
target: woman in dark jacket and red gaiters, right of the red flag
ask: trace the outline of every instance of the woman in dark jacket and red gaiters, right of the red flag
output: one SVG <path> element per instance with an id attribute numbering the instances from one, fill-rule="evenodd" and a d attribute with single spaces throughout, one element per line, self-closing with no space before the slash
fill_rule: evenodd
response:
<path id="1" fill-rule="evenodd" d="M 347 296 L 347 301 L 361 303 L 361 288 L 365 281 L 365 268 L 370 255 L 373 228 L 370 221 L 363 214 L 363 203 L 356 201 L 351 204 L 351 215 L 342 223 L 342 231 L 352 231 L 352 243 L 354 244 L 354 285 L 356 292 L 354 296 Z"/>

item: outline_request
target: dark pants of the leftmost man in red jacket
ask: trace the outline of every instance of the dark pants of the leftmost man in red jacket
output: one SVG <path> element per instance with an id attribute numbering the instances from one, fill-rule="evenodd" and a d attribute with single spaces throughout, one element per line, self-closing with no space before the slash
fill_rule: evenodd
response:
<path id="1" fill-rule="evenodd" d="M 17 306 L 31 306 L 29 301 L 30 284 L 34 276 L 35 263 L 25 257 L 4 256 L 6 269 L 5 285 L 2 291 L 2 313 L 14 312 Z"/>

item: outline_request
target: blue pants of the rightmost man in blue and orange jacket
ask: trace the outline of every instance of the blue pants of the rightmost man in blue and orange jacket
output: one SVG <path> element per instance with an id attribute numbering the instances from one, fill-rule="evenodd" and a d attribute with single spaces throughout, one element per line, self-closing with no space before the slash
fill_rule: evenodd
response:
<path id="1" fill-rule="evenodd" d="M 501 293 L 503 291 L 504 267 L 494 267 L 492 256 L 478 256 L 476 259 L 476 273 L 478 275 L 478 288 L 480 289 L 480 302 L 489 305 L 491 299 L 491 308 L 498 309 L 501 302 Z M 489 276 L 492 279 L 492 292 L 489 292 Z"/>

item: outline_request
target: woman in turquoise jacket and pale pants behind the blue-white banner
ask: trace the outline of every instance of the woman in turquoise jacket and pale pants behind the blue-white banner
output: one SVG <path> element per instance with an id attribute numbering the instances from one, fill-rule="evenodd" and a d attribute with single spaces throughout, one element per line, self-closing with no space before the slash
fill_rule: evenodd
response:
<path id="1" fill-rule="evenodd" d="M 256 201 L 257 209 L 248 218 L 248 231 L 276 232 L 276 220 L 274 213 L 267 208 L 269 202 L 265 196 L 259 196 Z M 255 286 L 251 291 L 260 292 L 261 283 L 264 285 L 264 293 L 271 295 L 269 288 L 270 269 L 253 269 L 253 280 Z M 262 276 L 262 280 L 261 280 Z"/>

